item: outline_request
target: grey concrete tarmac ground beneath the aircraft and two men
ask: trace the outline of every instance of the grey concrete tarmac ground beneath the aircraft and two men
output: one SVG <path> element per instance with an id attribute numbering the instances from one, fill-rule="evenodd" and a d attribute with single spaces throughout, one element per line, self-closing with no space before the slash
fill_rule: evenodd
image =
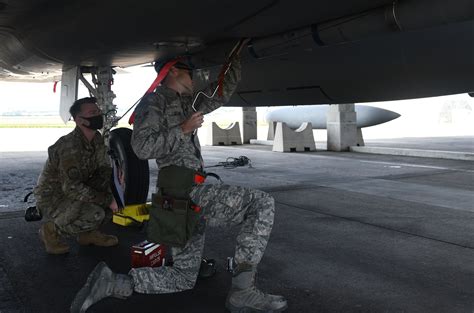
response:
<path id="1" fill-rule="evenodd" d="M 209 168 L 225 183 L 275 197 L 272 236 L 258 285 L 288 298 L 287 312 L 472 313 L 474 163 L 353 152 L 273 153 L 267 146 L 204 147 L 206 164 L 245 155 L 252 168 Z M 0 312 L 68 312 L 99 261 L 130 268 L 139 228 L 109 224 L 113 248 L 79 247 L 51 256 L 39 222 L 22 218 L 24 195 L 45 152 L 0 154 Z M 150 162 L 152 184 L 156 166 Z M 213 181 L 212 178 L 209 179 Z M 18 201 L 16 201 L 17 199 Z M 208 229 L 205 255 L 218 274 L 191 291 L 106 299 L 88 312 L 225 312 L 238 228 Z"/>

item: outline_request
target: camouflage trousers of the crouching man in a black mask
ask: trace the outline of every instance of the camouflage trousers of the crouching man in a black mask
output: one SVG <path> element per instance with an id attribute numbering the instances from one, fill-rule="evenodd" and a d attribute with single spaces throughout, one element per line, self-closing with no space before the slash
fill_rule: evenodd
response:
<path id="1" fill-rule="evenodd" d="M 105 218 L 104 208 L 68 198 L 54 200 L 37 199 L 36 205 L 43 216 L 52 220 L 56 229 L 64 236 L 75 236 L 79 233 L 99 228 Z"/>

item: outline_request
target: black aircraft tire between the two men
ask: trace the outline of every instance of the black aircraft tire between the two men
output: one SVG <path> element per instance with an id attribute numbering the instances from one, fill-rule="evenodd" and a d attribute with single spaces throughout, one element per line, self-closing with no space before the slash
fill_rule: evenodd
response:
<path id="1" fill-rule="evenodd" d="M 150 184 L 148 160 L 140 160 L 130 144 L 132 130 L 116 128 L 110 132 L 110 150 L 125 174 L 125 205 L 146 203 Z"/>

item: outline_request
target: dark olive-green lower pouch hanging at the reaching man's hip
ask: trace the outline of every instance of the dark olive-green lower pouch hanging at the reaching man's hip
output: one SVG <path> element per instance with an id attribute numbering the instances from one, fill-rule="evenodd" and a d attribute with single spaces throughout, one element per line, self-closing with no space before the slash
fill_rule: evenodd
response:
<path id="1" fill-rule="evenodd" d="M 148 240 L 183 248 L 193 235 L 199 218 L 200 212 L 192 209 L 190 200 L 153 194 L 147 226 Z"/>

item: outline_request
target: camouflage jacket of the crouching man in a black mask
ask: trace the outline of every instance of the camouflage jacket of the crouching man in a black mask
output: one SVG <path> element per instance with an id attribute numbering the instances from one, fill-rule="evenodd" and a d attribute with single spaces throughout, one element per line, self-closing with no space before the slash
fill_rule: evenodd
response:
<path id="1" fill-rule="evenodd" d="M 37 201 L 63 197 L 108 207 L 112 168 L 99 132 L 89 142 L 76 127 L 48 148 L 48 160 L 35 188 Z"/>

